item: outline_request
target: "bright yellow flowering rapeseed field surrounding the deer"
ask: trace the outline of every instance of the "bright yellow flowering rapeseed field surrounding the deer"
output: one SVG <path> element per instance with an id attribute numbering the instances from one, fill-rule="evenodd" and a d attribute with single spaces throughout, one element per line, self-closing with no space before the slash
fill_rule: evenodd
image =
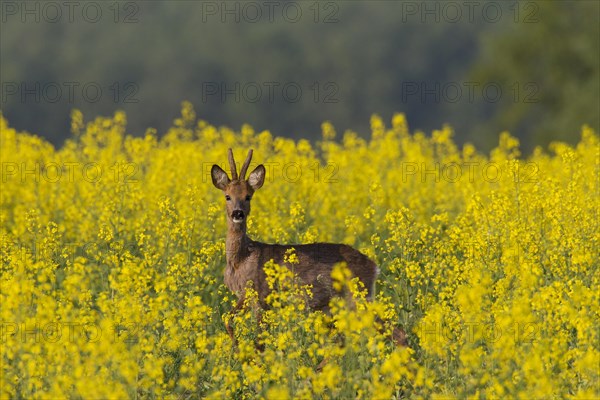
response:
<path id="1" fill-rule="evenodd" d="M 0 129 L 2 398 L 600 396 L 588 127 L 526 157 L 508 133 L 483 154 L 447 126 L 410 132 L 401 114 L 373 116 L 366 140 L 324 123 L 317 143 L 215 127 L 187 103 L 161 138 L 126 134 L 121 112 L 74 111 L 61 148 L 3 117 Z M 250 293 L 230 314 L 210 178 L 230 147 L 267 170 L 249 236 L 354 246 L 381 269 L 374 301 L 340 265 L 354 303 L 310 312 L 306 288 L 268 263 L 268 311 Z"/>

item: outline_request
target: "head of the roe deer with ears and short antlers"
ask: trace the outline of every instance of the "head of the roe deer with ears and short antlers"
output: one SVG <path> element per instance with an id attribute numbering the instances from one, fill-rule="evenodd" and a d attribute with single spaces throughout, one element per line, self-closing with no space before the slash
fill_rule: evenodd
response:
<path id="1" fill-rule="evenodd" d="M 239 176 L 233 158 L 233 151 L 231 151 L 231 149 L 229 149 L 228 156 L 229 166 L 231 168 L 231 179 L 229 179 L 227 173 L 216 164 L 212 166 L 210 175 L 213 185 L 215 185 L 217 189 L 221 189 L 225 194 L 225 200 L 227 202 L 227 224 L 245 231 L 246 219 L 250 214 L 250 200 L 252 200 L 252 195 L 256 190 L 260 189 L 265 182 L 265 167 L 260 164 L 250 173 L 248 179 L 245 179 L 246 171 L 252 160 L 252 150 L 248 151 L 248 156 L 242 165 Z"/>

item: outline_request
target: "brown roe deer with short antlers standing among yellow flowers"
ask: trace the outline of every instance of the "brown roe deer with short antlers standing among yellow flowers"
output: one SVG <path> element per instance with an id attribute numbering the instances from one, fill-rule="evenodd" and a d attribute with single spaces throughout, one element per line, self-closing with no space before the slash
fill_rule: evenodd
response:
<path id="1" fill-rule="evenodd" d="M 231 149 L 228 151 L 231 179 L 218 165 L 211 169 L 212 182 L 225 194 L 227 205 L 227 239 L 225 242 L 227 266 L 225 268 L 225 284 L 236 294 L 238 303 L 235 311 L 244 304 L 246 284 L 252 281 L 252 287 L 258 294 L 262 308 L 266 307 L 265 298 L 270 292 L 263 266 L 269 260 L 279 265 L 286 265 L 286 250 L 295 249 L 299 263 L 293 271 L 303 284 L 311 285 L 312 297 L 308 305 L 313 310 L 327 311 L 329 300 L 336 294 L 333 289 L 331 271 L 335 264 L 345 262 L 354 277 L 357 277 L 367 289 L 367 298 L 371 299 L 375 279 L 379 273 L 377 265 L 358 250 L 345 244 L 313 243 L 301 245 L 280 245 L 256 242 L 246 234 L 246 221 L 250 214 L 250 200 L 254 192 L 260 189 L 265 181 L 265 167 L 257 166 L 245 179 L 246 171 L 252 159 L 252 150 L 248 151 L 246 161 L 238 175 Z M 289 268 L 291 266 L 286 265 Z M 233 330 L 227 326 L 229 335 Z M 394 341 L 403 344 L 404 332 L 395 330 Z M 398 336 L 398 337 L 397 337 Z"/>

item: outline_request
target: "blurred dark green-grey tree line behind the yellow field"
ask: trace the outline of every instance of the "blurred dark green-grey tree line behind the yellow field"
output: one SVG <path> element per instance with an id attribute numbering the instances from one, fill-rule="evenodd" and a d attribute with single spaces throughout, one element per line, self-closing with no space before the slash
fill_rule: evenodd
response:
<path id="1" fill-rule="evenodd" d="M 55 144 L 73 108 L 123 109 L 140 135 L 183 100 L 309 139 L 325 120 L 368 136 L 371 114 L 395 112 L 484 150 L 503 130 L 526 150 L 598 130 L 599 2 L 472 3 L 2 1 L 0 107 Z"/>

